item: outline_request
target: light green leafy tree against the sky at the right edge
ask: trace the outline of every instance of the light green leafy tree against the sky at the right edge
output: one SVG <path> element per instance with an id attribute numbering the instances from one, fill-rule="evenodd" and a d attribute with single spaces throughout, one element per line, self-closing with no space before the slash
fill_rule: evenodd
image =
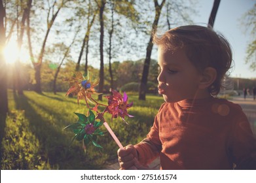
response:
<path id="1" fill-rule="evenodd" d="M 256 3 L 248 12 L 242 16 L 242 25 L 245 32 L 251 34 L 251 41 L 247 45 L 246 50 L 246 63 L 252 71 L 256 71 Z"/>

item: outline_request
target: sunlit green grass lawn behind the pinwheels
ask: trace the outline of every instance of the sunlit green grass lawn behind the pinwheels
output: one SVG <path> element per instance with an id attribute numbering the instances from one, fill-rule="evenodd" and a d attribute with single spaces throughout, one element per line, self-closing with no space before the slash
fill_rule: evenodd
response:
<path id="1" fill-rule="evenodd" d="M 107 161 L 117 158 L 119 147 L 104 127 L 104 136 L 97 139 L 103 148 L 90 145 L 84 154 L 81 142 L 74 141 L 69 146 L 73 131 L 64 127 L 77 122 L 73 112 L 88 116 L 88 110 L 85 102 L 77 105 L 75 97 L 64 96 L 65 93 L 46 92 L 24 92 L 18 96 L 9 91 L 12 112 L 5 121 L 1 169 L 105 169 Z M 141 103 L 137 95 L 129 95 L 129 101 L 134 101 L 134 107 L 128 112 L 135 117 L 126 118 L 128 125 L 120 118 L 111 122 L 110 114 L 104 116 L 123 146 L 145 138 L 163 99 L 149 95 Z"/>

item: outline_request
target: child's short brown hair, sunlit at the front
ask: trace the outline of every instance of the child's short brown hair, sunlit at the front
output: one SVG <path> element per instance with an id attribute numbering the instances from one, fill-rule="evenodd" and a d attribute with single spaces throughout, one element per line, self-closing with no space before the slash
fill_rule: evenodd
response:
<path id="1" fill-rule="evenodd" d="M 217 95 L 223 86 L 223 78 L 232 63 L 232 50 L 229 41 L 210 27 L 185 25 L 166 31 L 161 36 L 153 33 L 153 42 L 175 52 L 184 48 L 191 63 L 203 72 L 206 67 L 213 67 L 217 77 L 209 87 L 211 95 Z"/>

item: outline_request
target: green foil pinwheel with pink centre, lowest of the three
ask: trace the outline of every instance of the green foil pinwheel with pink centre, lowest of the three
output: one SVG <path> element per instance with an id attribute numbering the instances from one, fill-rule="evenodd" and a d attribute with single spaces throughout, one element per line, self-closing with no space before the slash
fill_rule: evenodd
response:
<path id="1" fill-rule="evenodd" d="M 98 135 L 104 135 L 100 131 L 99 127 L 103 124 L 103 121 L 96 122 L 95 115 L 92 110 L 89 110 L 89 115 L 85 116 L 84 114 L 75 114 L 79 117 L 75 124 L 67 125 L 64 129 L 70 128 L 75 133 L 71 143 L 74 140 L 82 141 L 82 146 L 84 151 L 86 151 L 86 146 L 92 142 L 94 146 L 102 148 L 100 144 L 97 143 Z"/>

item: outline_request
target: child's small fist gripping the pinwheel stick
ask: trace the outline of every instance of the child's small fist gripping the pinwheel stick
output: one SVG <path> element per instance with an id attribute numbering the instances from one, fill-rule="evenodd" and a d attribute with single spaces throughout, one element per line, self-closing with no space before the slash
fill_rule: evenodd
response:
<path id="1" fill-rule="evenodd" d="M 119 156 L 120 170 L 149 169 L 139 163 L 136 148 L 131 144 L 124 149 L 119 149 L 117 155 Z"/>

